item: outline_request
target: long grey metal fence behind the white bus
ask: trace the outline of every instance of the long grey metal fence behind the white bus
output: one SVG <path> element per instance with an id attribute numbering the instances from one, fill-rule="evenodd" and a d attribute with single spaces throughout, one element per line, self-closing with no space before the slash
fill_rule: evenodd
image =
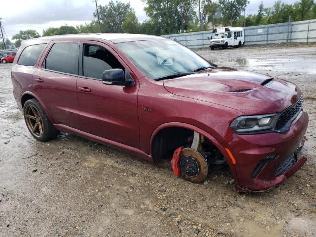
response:
<path id="1" fill-rule="evenodd" d="M 212 31 L 165 35 L 190 48 L 209 46 Z M 316 19 L 244 27 L 245 44 L 316 42 Z"/>

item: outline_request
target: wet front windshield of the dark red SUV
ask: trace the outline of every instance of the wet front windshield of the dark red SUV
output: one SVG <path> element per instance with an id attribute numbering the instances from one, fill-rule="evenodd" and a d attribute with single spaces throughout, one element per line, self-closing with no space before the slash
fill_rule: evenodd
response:
<path id="1" fill-rule="evenodd" d="M 205 59 L 173 40 L 146 40 L 116 45 L 152 80 L 211 66 Z"/>

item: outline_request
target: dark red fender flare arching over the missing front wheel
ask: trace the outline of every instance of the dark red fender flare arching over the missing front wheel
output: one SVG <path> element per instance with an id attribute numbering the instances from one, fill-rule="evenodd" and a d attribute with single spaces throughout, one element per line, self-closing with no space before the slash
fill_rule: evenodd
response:
<path id="1" fill-rule="evenodd" d="M 196 132 L 202 134 L 204 137 L 206 137 L 210 142 L 212 142 L 217 147 L 217 149 L 222 153 L 223 157 L 225 158 L 226 162 L 228 163 L 230 171 L 232 173 L 232 176 L 233 176 L 233 178 L 235 180 L 235 187 L 236 188 L 239 187 L 235 166 L 234 166 L 230 156 L 228 155 L 227 151 L 222 146 L 222 144 L 219 141 L 217 141 L 217 139 L 215 139 L 208 132 L 205 132 L 204 130 L 202 130 L 202 129 L 196 127 L 196 126 L 193 126 L 191 124 L 182 123 L 182 122 L 168 122 L 168 123 L 164 123 L 164 124 L 161 124 L 160 126 L 158 126 L 154 130 L 154 132 L 152 133 L 152 136 L 150 138 L 149 146 L 150 146 L 150 155 L 151 155 L 151 157 L 153 157 L 152 156 L 152 154 L 153 154 L 152 153 L 152 144 L 153 144 L 153 140 L 154 140 L 155 136 L 158 134 L 159 131 L 161 131 L 164 128 L 168 128 L 168 127 L 182 127 L 182 128 L 187 128 L 187 129 L 196 131 Z M 155 160 L 154 160 L 154 162 L 155 162 Z"/>

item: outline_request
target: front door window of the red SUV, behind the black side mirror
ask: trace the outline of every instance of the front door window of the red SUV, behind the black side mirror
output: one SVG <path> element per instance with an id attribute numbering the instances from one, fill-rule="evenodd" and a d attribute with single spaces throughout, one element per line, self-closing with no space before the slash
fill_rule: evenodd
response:
<path id="1" fill-rule="evenodd" d="M 83 48 L 83 76 L 102 79 L 104 70 L 121 68 L 123 66 L 104 47 L 84 44 Z"/>

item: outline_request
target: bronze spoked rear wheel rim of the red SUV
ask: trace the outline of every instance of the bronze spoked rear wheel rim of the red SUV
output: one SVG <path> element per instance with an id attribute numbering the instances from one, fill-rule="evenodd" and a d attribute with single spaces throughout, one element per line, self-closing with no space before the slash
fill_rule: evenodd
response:
<path id="1" fill-rule="evenodd" d="M 32 135 L 36 137 L 43 135 L 43 120 L 39 111 L 33 105 L 27 105 L 25 108 L 25 121 Z"/>

